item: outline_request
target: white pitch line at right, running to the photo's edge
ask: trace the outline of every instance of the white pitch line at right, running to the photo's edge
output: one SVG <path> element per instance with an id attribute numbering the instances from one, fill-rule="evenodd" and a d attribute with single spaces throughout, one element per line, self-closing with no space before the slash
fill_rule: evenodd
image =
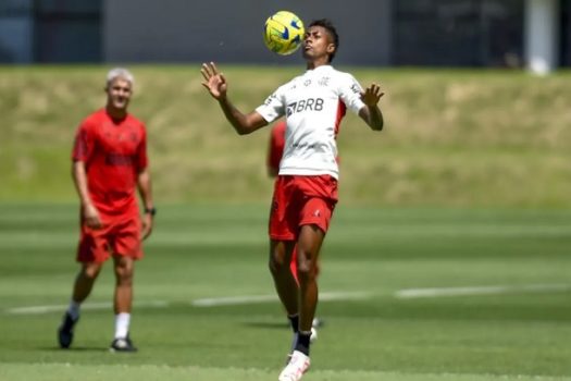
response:
<path id="1" fill-rule="evenodd" d="M 436 287 L 436 288 L 406 288 L 395 293 L 399 299 L 412 299 L 421 297 L 446 297 L 446 296 L 470 296 L 470 295 L 497 295 L 514 293 L 543 293 L 571 291 L 571 284 L 523 284 L 523 285 L 497 285 L 497 286 L 470 286 L 470 287 Z"/>

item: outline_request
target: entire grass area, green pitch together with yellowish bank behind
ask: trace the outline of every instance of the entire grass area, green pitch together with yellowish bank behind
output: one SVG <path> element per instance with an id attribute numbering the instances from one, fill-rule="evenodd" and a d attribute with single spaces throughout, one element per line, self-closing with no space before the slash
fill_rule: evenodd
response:
<path id="1" fill-rule="evenodd" d="M 159 207 L 132 335 L 111 269 L 57 347 L 77 238 L 72 135 L 107 67 L 0 69 L 0 380 L 275 380 L 289 330 L 266 270 L 268 132 L 237 136 L 198 65 L 135 66 Z M 294 69 L 223 67 L 253 109 Z M 571 380 L 569 73 L 374 71 L 386 131 L 349 115 L 305 379 Z"/>

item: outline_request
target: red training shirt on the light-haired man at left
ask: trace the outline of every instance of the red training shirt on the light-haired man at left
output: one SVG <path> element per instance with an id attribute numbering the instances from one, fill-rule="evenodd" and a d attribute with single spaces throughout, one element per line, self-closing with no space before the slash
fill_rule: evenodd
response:
<path id="1" fill-rule="evenodd" d="M 83 161 L 89 196 L 100 213 L 137 210 L 137 175 L 147 165 L 145 125 L 127 114 L 113 120 L 105 109 L 88 115 L 77 128 L 72 159 Z"/>

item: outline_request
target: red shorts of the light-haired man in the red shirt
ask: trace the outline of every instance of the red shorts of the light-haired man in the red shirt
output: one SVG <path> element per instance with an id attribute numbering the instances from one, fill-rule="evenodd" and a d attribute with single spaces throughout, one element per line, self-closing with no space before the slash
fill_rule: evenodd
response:
<path id="1" fill-rule="evenodd" d="M 111 255 L 142 258 L 141 222 L 138 212 L 102 218 L 103 228 L 94 230 L 82 223 L 78 262 L 103 262 Z"/>

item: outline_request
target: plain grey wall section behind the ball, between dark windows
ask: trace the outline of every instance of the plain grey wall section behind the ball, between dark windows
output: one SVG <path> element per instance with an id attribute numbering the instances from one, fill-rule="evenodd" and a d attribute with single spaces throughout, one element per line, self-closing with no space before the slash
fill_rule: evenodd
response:
<path id="1" fill-rule="evenodd" d="M 340 35 L 337 63 L 387 65 L 390 0 L 105 0 L 104 60 L 110 62 L 299 62 L 262 42 L 268 16 L 280 10 L 306 23 L 331 19 Z M 144 11 L 142 11 L 144 10 Z"/>

